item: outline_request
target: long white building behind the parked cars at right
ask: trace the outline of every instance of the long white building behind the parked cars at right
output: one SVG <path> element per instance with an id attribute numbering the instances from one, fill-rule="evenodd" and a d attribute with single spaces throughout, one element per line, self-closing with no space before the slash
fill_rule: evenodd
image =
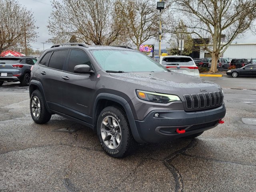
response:
<path id="1" fill-rule="evenodd" d="M 200 50 L 200 58 L 212 57 L 207 51 Z M 225 58 L 256 58 L 256 43 L 232 43 L 224 52 Z"/>

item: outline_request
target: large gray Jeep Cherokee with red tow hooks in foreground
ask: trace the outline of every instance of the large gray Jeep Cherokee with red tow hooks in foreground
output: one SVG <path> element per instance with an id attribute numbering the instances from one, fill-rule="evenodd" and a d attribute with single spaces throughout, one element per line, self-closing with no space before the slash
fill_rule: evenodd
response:
<path id="1" fill-rule="evenodd" d="M 223 123 L 222 88 L 169 71 L 129 47 L 58 44 L 31 72 L 30 112 L 46 123 L 58 114 L 98 134 L 110 156 L 136 142 L 194 138 Z"/>

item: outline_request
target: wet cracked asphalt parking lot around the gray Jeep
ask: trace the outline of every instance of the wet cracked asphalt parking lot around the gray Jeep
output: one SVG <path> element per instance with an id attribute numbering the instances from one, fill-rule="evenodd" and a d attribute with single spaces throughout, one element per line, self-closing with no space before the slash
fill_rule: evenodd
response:
<path id="1" fill-rule="evenodd" d="M 224 124 L 196 139 L 106 155 L 91 129 L 58 115 L 35 124 L 28 87 L 0 87 L 0 191 L 256 191 L 256 78 L 224 88 Z"/>

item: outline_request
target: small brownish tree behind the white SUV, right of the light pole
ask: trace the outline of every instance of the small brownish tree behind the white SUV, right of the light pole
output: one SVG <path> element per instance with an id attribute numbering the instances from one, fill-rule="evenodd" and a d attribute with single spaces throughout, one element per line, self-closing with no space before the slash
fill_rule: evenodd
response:
<path id="1" fill-rule="evenodd" d="M 193 39 L 191 37 L 191 34 L 188 34 L 187 27 L 184 25 L 183 20 L 181 20 L 174 28 L 175 33 L 171 35 L 169 44 L 170 48 L 167 48 L 168 54 L 170 55 L 179 55 L 180 51 L 178 50 L 179 47 L 179 40 L 184 40 L 184 50 L 182 51 L 183 55 L 188 56 L 192 53 L 193 49 Z"/>

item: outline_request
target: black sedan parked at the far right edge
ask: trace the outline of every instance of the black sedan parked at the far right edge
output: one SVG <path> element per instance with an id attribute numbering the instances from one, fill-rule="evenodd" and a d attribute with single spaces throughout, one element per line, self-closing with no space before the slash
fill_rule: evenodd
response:
<path id="1" fill-rule="evenodd" d="M 256 77 L 256 64 L 248 64 L 240 69 L 232 69 L 226 72 L 227 75 L 232 77 L 238 76 L 255 76 Z"/>

